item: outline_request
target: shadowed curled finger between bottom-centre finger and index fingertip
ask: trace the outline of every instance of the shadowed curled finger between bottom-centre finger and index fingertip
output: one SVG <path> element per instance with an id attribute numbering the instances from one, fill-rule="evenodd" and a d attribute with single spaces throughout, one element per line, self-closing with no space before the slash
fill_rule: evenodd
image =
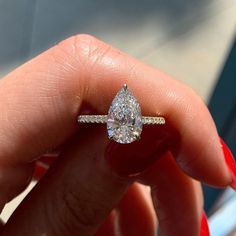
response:
<path id="1" fill-rule="evenodd" d="M 170 153 L 156 161 L 143 181 L 151 185 L 161 235 L 200 235 L 200 184 L 181 172 Z"/>

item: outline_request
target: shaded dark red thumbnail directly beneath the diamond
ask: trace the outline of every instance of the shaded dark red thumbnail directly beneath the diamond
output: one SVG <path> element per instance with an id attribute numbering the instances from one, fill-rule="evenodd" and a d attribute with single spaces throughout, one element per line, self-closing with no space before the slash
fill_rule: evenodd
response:
<path id="1" fill-rule="evenodd" d="M 137 175 L 170 148 L 172 141 L 168 139 L 166 129 L 158 126 L 144 127 L 141 139 L 130 144 L 111 141 L 105 159 L 118 175 Z"/>

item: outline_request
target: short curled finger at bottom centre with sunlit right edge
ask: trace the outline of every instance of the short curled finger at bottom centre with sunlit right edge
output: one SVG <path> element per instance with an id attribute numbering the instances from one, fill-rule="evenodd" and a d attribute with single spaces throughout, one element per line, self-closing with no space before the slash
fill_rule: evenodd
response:
<path id="1" fill-rule="evenodd" d="M 157 235 L 157 221 L 150 191 L 133 184 L 118 205 L 121 235 Z"/>

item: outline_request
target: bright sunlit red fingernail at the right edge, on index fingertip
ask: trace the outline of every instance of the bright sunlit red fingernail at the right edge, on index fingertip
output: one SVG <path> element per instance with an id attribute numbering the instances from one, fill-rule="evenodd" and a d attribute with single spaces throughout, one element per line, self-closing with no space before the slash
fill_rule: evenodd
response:
<path id="1" fill-rule="evenodd" d="M 220 138 L 220 142 L 222 145 L 225 162 L 230 170 L 231 176 L 232 176 L 232 182 L 230 186 L 236 190 L 236 163 L 235 159 L 233 157 L 233 154 L 231 153 L 229 147 L 225 144 L 225 142 Z"/>

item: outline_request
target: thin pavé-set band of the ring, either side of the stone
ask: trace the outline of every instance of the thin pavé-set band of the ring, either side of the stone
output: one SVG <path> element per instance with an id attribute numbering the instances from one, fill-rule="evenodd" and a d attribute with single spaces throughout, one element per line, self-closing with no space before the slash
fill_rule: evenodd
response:
<path id="1" fill-rule="evenodd" d="M 79 123 L 107 123 L 107 115 L 80 115 L 78 116 Z M 164 125 L 165 118 L 162 116 L 142 116 L 142 123 L 144 125 Z"/>

